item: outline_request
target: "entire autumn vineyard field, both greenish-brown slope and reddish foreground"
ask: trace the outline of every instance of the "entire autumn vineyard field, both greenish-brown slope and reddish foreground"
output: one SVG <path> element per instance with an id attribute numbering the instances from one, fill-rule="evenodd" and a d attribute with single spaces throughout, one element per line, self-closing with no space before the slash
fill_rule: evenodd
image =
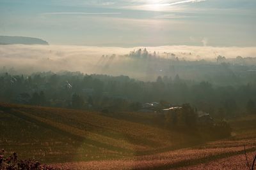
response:
<path id="1" fill-rule="evenodd" d="M 229 123 L 232 137 L 204 141 L 102 113 L 0 104 L 0 148 L 60 169 L 246 169 L 256 117 Z"/>

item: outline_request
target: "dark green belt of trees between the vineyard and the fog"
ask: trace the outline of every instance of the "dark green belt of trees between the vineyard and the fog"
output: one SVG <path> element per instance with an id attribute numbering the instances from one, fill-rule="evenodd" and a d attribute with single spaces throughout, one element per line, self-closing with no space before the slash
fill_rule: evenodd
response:
<path id="1" fill-rule="evenodd" d="M 140 81 L 129 76 L 79 72 L 26 76 L 1 73 L 0 89 L 1 102 L 81 110 L 140 111 L 145 104 L 154 102 L 165 108 L 189 103 L 196 110 L 221 118 L 256 110 L 253 79 L 239 85 L 220 86 L 208 81 L 185 80 L 179 74 Z"/>

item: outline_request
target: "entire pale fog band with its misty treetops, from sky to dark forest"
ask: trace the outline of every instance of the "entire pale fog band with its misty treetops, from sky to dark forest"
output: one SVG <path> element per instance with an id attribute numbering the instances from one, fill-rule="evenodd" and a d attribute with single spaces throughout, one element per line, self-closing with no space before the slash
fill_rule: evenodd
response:
<path id="1" fill-rule="evenodd" d="M 134 50 L 66 47 L 0 46 L 0 72 L 32 74 L 80 71 L 112 76 L 122 74 L 142 81 L 155 81 L 157 76 L 175 78 L 179 74 L 186 80 L 208 81 L 214 85 L 239 85 L 251 80 L 256 70 L 256 58 L 250 57 L 255 56 L 254 48 L 224 50 L 214 47 L 164 46 Z"/>

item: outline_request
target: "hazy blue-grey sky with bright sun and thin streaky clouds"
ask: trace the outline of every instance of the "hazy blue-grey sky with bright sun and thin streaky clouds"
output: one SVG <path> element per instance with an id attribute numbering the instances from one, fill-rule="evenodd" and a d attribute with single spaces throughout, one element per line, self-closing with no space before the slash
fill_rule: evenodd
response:
<path id="1" fill-rule="evenodd" d="M 256 46 L 255 0 L 0 0 L 0 35 L 56 45 Z"/>

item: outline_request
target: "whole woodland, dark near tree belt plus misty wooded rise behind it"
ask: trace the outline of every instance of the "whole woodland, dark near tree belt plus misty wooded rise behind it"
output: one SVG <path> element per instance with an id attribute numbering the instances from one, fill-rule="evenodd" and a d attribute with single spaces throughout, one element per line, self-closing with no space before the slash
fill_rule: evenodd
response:
<path id="1" fill-rule="evenodd" d="M 220 118 L 253 114 L 255 61 L 221 55 L 216 60 L 186 60 L 141 48 L 126 55 L 102 55 L 94 67 L 97 74 L 25 75 L 2 67 L 0 101 L 98 111 L 138 111 L 152 102 L 167 103 L 166 107 L 189 103 Z"/>

